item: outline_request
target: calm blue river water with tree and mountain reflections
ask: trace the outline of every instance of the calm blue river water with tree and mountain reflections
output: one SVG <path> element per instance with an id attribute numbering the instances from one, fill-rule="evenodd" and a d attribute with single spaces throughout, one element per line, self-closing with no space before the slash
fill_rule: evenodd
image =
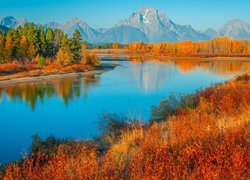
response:
<path id="1" fill-rule="evenodd" d="M 237 61 L 107 58 L 103 57 L 103 63 L 121 66 L 96 76 L 0 88 L 0 163 L 28 152 L 33 134 L 91 139 L 98 133 L 97 122 L 103 113 L 146 122 L 151 107 L 171 93 L 192 93 L 250 67 L 250 62 Z"/>

